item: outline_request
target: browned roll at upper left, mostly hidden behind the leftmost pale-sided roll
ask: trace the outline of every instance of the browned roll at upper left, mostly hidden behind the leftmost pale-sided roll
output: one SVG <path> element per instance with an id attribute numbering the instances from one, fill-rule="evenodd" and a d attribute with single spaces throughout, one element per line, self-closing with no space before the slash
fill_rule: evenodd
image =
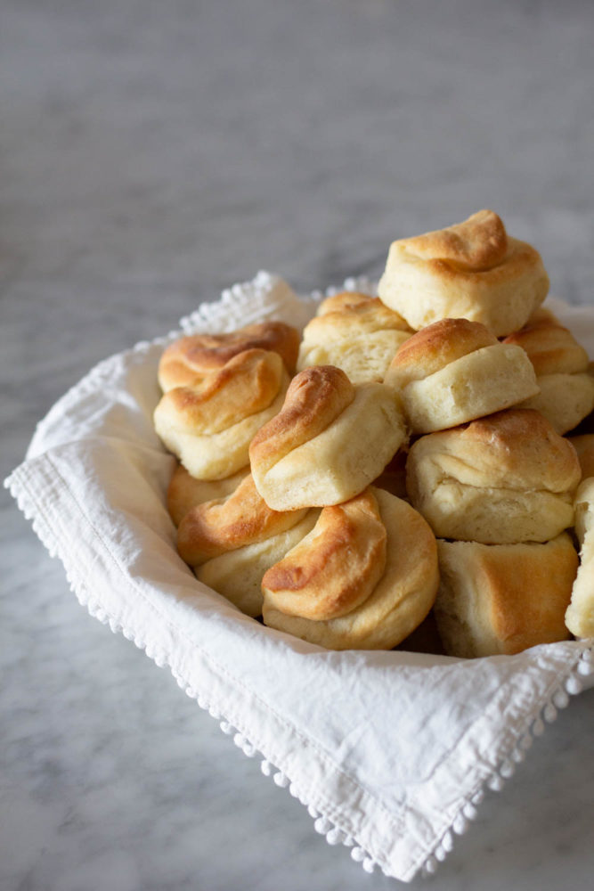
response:
<path id="1" fill-rule="evenodd" d="M 160 387 L 166 393 L 174 387 L 195 385 L 197 380 L 219 371 L 233 356 L 247 349 L 278 353 L 289 374 L 293 374 L 299 334 L 284 322 L 260 322 L 229 334 L 191 334 L 180 338 L 170 344 L 160 358 Z"/>

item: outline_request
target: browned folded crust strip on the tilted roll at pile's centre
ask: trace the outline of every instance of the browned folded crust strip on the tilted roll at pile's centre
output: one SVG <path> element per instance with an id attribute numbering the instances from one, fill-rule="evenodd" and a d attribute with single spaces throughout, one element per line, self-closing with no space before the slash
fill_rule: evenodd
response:
<path id="1" fill-rule="evenodd" d="M 354 400 L 354 386 L 333 365 L 315 365 L 289 384 L 281 412 L 258 430 L 249 462 L 260 472 L 326 429 Z"/>

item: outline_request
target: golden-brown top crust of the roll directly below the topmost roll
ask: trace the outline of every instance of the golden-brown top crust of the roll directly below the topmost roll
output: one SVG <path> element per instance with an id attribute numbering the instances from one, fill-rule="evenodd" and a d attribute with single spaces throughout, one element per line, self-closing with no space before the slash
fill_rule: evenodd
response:
<path id="1" fill-rule="evenodd" d="M 441 319 L 404 341 L 388 368 L 386 383 L 405 387 L 411 380 L 427 378 L 456 359 L 497 343 L 495 335 L 478 322 Z"/>

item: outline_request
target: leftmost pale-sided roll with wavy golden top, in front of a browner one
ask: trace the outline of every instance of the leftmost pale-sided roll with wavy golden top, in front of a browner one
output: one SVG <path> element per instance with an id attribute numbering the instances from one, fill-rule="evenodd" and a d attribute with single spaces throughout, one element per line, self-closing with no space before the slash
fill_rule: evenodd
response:
<path id="1" fill-rule="evenodd" d="M 288 386 L 278 353 L 248 349 L 195 384 L 167 390 L 155 429 L 191 476 L 223 479 L 248 464 L 250 440 L 281 410 Z"/>

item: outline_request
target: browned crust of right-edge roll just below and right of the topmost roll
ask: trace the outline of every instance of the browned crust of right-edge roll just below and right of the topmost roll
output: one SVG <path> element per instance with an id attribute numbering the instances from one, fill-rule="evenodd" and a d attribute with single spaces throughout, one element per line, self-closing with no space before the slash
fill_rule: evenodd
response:
<path id="1" fill-rule="evenodd" d="M 522 347 L 539 377 L 543 374 L 585 372 L 588 368 L 586 350 L 571 331 L 545 309 L 534 313 L 524 328 L 509 334 L 503 343 Z"/>

